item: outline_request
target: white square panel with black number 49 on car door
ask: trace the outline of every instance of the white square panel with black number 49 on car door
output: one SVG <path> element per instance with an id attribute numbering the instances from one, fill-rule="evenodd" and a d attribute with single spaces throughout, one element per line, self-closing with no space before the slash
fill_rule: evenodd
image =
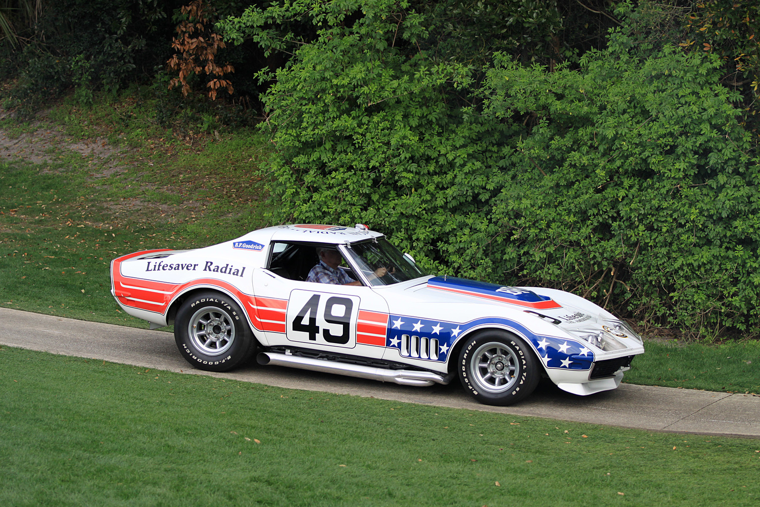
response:
<path id="1" fill-rule="evenodd" d="M 359 298 L 293 290 L 287 306 L 287 339 L 307 344 L 356 347 Z"/>

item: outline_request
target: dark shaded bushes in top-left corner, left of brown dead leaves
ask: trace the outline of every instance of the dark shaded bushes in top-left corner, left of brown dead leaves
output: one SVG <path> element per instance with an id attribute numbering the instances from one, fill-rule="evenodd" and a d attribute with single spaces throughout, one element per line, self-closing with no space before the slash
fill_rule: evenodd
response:
<path id="1" fill-rule="evenodd" d="M 19 77 L 12 97 L 21 113 L 33 112 L 70 87 L 87 104 L 93 90 L 115 93 L 130 81 L 150 78 L 154 66 L 169 58 L 174 25 L 167 14 L 181 2 L 58 0 L 39 5 L 23 44 L 0 43 L 6 65 L 14 62 Z"/>

